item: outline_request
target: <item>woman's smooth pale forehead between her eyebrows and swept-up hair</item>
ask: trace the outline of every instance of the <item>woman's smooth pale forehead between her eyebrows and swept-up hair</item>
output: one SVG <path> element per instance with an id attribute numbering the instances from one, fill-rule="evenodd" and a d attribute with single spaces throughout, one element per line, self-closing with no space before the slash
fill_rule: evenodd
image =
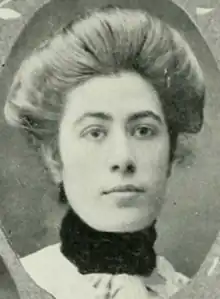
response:
<path id="1" fill-rule="evenodd" d="M 153 86 L 136 73 L 95 77 L 67 93 L 66 113 L 74 120 L 85 112 L 123 115 L 150 110 L 163 117 Z"/>

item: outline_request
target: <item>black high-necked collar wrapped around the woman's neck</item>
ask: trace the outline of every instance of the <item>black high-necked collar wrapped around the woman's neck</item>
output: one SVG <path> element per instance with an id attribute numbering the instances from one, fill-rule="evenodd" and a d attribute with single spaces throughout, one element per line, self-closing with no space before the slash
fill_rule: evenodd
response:
<path id="1" fill-rule="evenodd" d="M 82 274 L 110 273 L 149 276 L 156 267 L 155 222 L 142 231 L 96 231 L 69 209 L 60 229 L 61 251 Z"/>

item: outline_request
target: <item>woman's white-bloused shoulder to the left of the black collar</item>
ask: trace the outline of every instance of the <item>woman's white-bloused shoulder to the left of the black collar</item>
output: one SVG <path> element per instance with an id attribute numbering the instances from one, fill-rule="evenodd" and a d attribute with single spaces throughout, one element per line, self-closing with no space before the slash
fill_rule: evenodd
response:
<path id="1" fill-rule="evenodd" d="M 73 296 L 81 299 L 91 295 L 90 285 L 86 284 L 77 268 L 63 256 L 60 244 L 45 247 L 20 261 L 34 282 L 56 299 L 69 299 Z"/>

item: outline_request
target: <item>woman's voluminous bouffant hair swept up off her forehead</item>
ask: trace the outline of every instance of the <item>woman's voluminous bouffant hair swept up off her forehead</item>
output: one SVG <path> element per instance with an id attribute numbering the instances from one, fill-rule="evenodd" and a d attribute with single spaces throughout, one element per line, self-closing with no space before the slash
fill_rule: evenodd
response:
<path id="1" fill-rule="evenodd" d="M 157 90 L 173 161 L 178 135 L 197 133 L 202 127 L 203 74 L 182 35 L 141 10 L 98 9 L 35 49 L 14 77 L 6 120 L 27 133 L 47 163 L 55 161 L 66 93 L 92 77 L 122 71 L 140 74 Z"/>

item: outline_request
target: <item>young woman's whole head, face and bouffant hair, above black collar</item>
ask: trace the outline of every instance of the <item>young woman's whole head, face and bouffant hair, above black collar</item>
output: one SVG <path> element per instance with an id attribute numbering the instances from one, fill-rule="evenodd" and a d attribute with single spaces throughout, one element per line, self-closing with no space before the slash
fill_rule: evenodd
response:
<path id="1" fill-rule="evenodd" d="M 142 11 L 69 24 L 22 64 L 5 106 L 91 227 L 136 231 L 164 201 L 179 133 L 198 132 L 204 83 L 187 43 Z"/>

